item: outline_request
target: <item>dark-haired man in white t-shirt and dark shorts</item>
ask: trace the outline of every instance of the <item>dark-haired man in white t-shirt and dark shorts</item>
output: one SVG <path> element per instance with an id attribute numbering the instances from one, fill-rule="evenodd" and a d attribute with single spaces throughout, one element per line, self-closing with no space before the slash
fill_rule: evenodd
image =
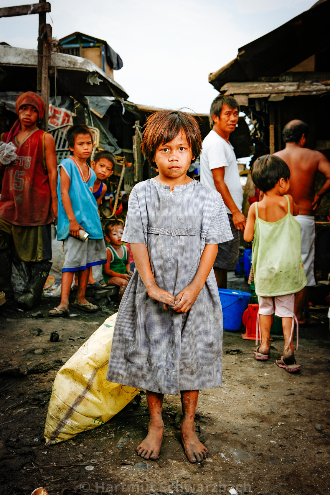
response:
<path id="1" fill-rule="evenodd" d="M 227 271 L 235 270 L 239 254 L 239 231 L 244 230 L 243 192 L 237 160 L 229 135 L 236 128 L 239 106 L 235 98 L 217 96 L 211 105 L 212 131 L 203 141 L 200 155 L 200 182 L 216 189 L 226 205 L 234 239 L 218 245 L 213 265 L 219 288 L 227 289 Z"/>

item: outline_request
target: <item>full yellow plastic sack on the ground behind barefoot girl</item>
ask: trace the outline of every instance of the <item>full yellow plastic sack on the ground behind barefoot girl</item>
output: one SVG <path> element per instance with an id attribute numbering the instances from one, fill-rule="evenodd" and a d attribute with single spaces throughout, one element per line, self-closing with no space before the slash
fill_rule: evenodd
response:
<path id="1" fill-rule="evenodd" d="M 116 317 L 117 313 L 107 318 L 57 372 L 45 424 L 46 445 L 102 425 L 138 394 L 139 389 L 105 378 Z"/>

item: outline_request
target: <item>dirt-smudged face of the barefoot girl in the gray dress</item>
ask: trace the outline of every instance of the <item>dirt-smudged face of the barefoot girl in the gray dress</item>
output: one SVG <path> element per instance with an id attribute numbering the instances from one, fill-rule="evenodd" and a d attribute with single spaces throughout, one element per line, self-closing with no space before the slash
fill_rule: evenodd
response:
<path id="1" fill-rule="evenodd" d="M 159 175 L 171 179 L 186 175 L 191 160 L 194 158 L 184 131 L 169 143 L 161 144 L 155 152 L 155 163 Z"/>

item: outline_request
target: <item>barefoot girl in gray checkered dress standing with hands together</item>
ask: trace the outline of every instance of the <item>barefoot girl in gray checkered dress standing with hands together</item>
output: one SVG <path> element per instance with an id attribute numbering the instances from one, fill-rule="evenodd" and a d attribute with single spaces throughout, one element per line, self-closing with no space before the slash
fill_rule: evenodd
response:
<path id="1" fill-rule="evenodd" d="M 162 110 L 148 118 L 142 152 L 159 175 L 130 194 L 122 241 L 136 269 L 120 303 L 107 380 L 146 390 L 149 432 L 137 447 L 157 459 L 164 394 L 181 394 L 181 438 L 190 462 L 207 448 L 195 434 L 199 389 L 222 381 L 222 309 L 212 269 L 233 239 L 221 195 L 187 176 L 199 155 L 196 120 Z"/>

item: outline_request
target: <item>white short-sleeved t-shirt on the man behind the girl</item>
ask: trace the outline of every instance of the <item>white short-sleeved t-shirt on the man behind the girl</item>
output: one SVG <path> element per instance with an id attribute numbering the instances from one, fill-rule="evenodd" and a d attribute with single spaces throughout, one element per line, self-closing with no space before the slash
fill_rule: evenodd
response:
<path id="1" fill-rule="evenodd" d="M 218 133 L 210 131 L 203 141 L 203 148 L 200 155 L 200 182 L 212 189 L 217 189 L 214 185 L 213 168 L 225 168 L 225 184 L 239 209 L 242 211 L 243 191 L 240 184 L 237 160 L 234 148 L 227 143 Z M 231 210 L 227 208 L 227 213 Z"/>

